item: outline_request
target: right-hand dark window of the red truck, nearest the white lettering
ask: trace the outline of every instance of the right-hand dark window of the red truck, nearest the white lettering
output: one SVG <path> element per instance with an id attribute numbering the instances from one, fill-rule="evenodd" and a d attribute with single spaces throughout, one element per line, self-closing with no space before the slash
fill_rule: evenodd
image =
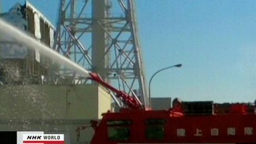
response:
<path id="1" fill-rule="evenodd" d="M 167 120 L 146 120 L 146 137 L 149 140 L 162 140 L 165 137 L 165 124 Z"/>

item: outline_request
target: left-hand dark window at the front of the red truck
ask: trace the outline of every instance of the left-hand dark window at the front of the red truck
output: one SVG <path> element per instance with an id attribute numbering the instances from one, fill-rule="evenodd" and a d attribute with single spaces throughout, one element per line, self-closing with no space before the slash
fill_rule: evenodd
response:
<path id="1" fill-rule="evenodd" d="M 107 121 L 108 139 L 110 140 L 129 140 L 130 139 L 130 120 Z"/>

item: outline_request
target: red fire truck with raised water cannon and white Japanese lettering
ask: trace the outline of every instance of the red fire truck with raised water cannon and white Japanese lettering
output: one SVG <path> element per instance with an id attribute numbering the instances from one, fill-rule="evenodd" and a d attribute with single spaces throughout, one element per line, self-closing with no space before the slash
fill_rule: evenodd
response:
<path id="1" fill-rule="evenodd" d="M 92 121 L 92 144 L 116 143 L 256 143 L 254 104 L 214 104 L 212 101 L 180 102 L 169 110 L 146 110 L 123 91 L 93 81 L 116 93 L 128 108 L 103 114 Z"/>

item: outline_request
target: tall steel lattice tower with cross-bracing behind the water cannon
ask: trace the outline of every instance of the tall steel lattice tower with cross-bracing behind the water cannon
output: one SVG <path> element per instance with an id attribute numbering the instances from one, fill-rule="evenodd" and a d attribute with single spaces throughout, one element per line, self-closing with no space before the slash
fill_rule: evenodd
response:
<path id="1" fill-rule="evenodd" d="M 55 47 L 148 107 L 136 24 L 132 0 L 60 0 Z"/>

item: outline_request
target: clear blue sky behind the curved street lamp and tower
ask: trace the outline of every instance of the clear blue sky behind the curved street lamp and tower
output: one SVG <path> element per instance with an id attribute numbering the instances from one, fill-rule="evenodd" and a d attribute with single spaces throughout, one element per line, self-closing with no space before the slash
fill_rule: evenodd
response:
<path id="1" fill-rule="evenodd" d="M 18 0 L 2 0 L 7 11 Z M 56 22 L 57 0 L 30 0 Z M 50 4 L 49 4 L 50 3 Z M 256 99 L 256 1 L 139 0 L 137 20 L 152 97 L 253 102 Z"/>

